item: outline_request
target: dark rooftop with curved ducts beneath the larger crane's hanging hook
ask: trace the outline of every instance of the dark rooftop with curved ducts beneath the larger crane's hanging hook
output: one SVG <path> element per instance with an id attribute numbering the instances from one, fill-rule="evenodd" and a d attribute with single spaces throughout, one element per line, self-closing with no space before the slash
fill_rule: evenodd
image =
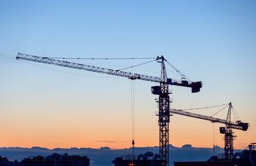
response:
<path id="1" fill-rule="evenodd" d="M 166 165 L 164 160 L 160 160 L 160 155 L 153 155 L 148 151 L 145 154 L 139 154 L 137 157 L 133 155 L 122 156 L 115 158 L 112 163 L 114 166 L 163 166 Z"/>

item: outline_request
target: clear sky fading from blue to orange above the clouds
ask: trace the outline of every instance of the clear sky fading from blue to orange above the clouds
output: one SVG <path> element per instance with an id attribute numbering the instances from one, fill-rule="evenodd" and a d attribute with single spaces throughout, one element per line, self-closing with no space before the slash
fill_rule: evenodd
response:
<path id="1" fill-rule="evenodd" d="M 203 88 L 173 90 L 171 108 L 232 102 L 248 131 L 234 131 L 234 149 L 256 141 L 255 1 L 8 1 L 0 0 L 0 147 L 131 147 L 131 81 L 49 64 L 41 57 L 157 57 L 163 55 Z M 71 60 L 72 61 L 72 60 Z M 147 62 L 79 60 L 120 69 Z M 181 77 L 167 65 L 167 76 Z M 126 69 L 160 77 L 151 62 Z M 159 145 L 158 84 L 135 80 L 135 146 Z M 222 107 L 196 110 L 212 116 Z M 216 115 L 225 119 L 228 109 Z M 223 124 L 174 115 L 169 143 L 224 146 Z"/>

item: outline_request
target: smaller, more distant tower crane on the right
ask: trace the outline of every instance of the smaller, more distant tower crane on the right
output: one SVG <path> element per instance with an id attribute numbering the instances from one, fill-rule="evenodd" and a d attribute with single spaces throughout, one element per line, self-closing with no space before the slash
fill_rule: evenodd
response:
<path id="1" fill-rule="evenodd" d="M 229 103 L 228 107 L 228 116 L 225 120 L 214 118 L 212 116 L 203 116 L 197 113 L 191 113 L 187 111 L 182 111 L 181 109 L 171 109 L 170 113 L 175 113 L 181 116 L 189 116 L 192 118 L 198 118 L 203 120 L 209 120 L 210 122 L 219 122 L 225 124 L 225 127 L 220 127 L 220 133 L 225 134 L 225 147 L 224 147 L 224 158 L 225 159 L 232 159 L 233 156 L 233 140 L 234 136 L 232 135 L 232 129 L 239 129 L 242 131 L 247 131 L 249 124 L 246 122 L 241 122 L 241 120 L 237 120 L 237 122 L 231 122 L 231 110 L 232 104 Z"/>

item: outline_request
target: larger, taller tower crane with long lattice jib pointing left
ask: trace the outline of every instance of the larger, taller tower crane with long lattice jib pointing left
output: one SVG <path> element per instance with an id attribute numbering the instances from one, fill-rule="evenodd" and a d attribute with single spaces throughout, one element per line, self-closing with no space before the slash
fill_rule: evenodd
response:
<path id="1" fill-rule="evenodd" d="M 92 71 L 96 73 L 105 73 L 108 75 L 117 75 L 120 77 L 128 77 L 131 80 L 144 80 L 149 82 L 160 83 L 160 86 L 152 86 L 151 92 L 155 95 L 159 95 L 159 120 L 158 125 L 160 126 L 160 156 L 164 160 L 166 165 L 169 165 L 169 116 L 170 116 L 170 99 L 169 85 L 185 86 L 191 88 L 192 93 L 200 91 L 202 82 L 188 82 L 187 80 L 176 81 L 171 78 L 167 78 L 167 71 L 164 62 L 167 62 L 163 56 L 157 57 L 155 60 L 160 62 L 161 77 L 153 77 L 148 75 L 141 75 L 137 73 L 130 73 L 126 71 L 113 70 L 110 68 L 101 68 L 97 66 L 89 66 L 86 64 L 78 64 L 74 62 L 61 61 L 49 57 L 37 57 L 34 55 L 26 55 L 18 53 L 16 59 L 23 59 L 32 62 L 39 62 L 44 64 L 53 64 L 57 66 L 63 66 L 67 68 L 76 68 L 85 71 Z"/>

